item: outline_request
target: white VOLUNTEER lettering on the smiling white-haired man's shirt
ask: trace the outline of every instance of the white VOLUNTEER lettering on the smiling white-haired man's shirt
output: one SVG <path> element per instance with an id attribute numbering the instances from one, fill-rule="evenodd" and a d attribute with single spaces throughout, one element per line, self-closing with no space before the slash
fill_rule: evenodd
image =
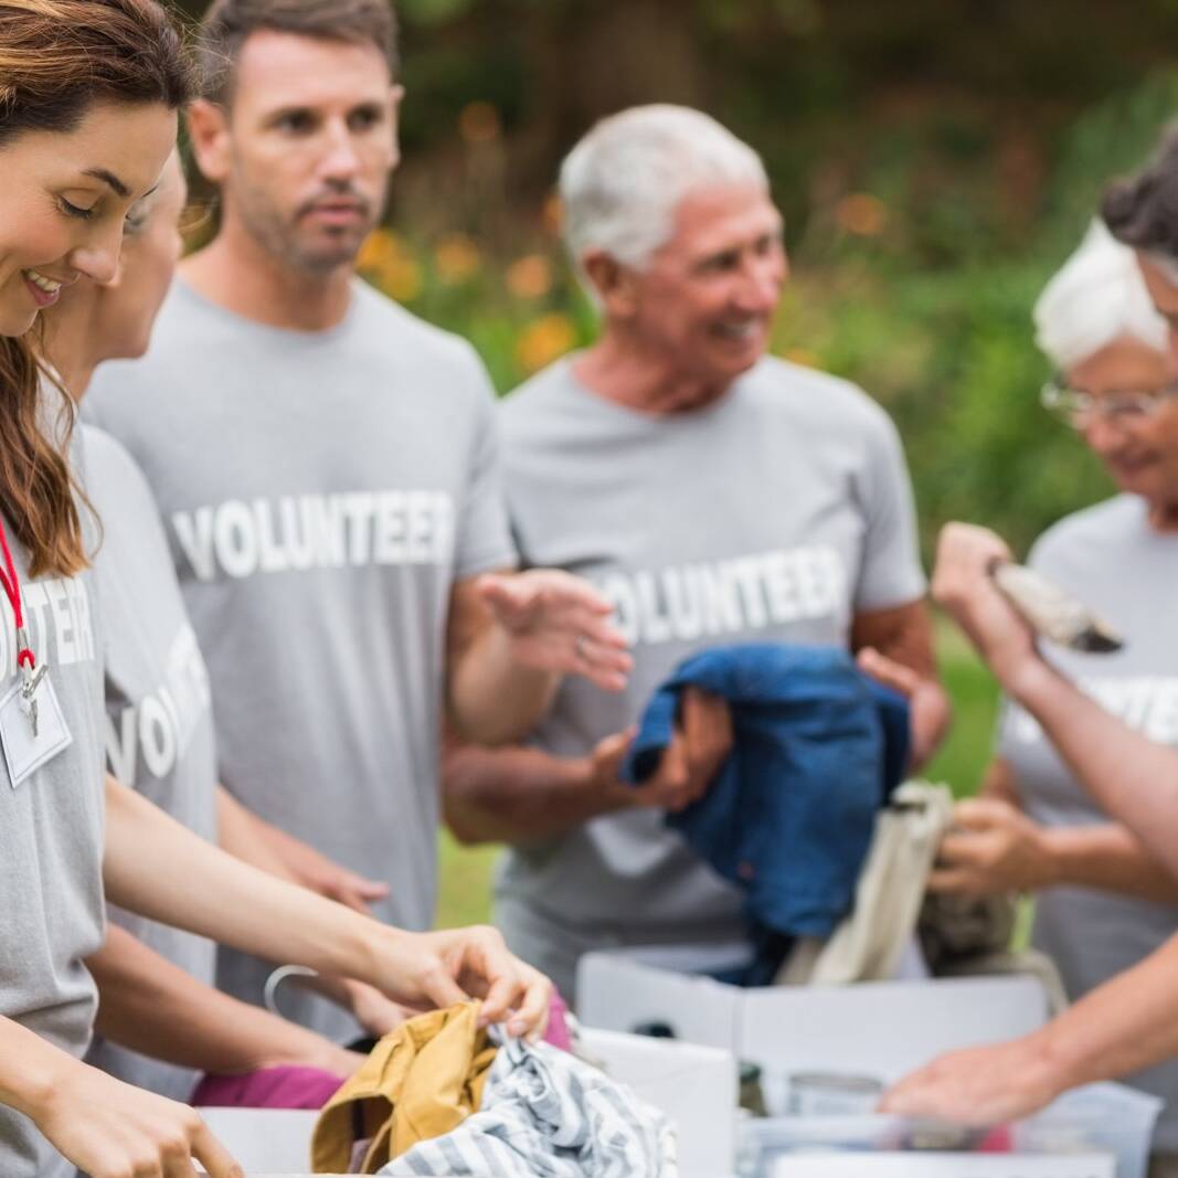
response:
<path id="1" fill-rule="evenodd" d="M 693 642 L 801 618 L 839 616 L 847 578 L 826 545 L 595 578 L 630 644 Z"/>

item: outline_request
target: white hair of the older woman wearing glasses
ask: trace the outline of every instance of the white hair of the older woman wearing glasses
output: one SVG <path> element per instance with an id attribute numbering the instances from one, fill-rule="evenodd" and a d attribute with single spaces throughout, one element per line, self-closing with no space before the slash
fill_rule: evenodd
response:
<path id="1" fill-rule="evenodd" d="M 1137 256 L 1100 220 L 1051 279 L 1034 306 L 1035 343 L 1066 372 L 1123 336 L 1166 346 L 1166 322 L 1145 287 Z"/>

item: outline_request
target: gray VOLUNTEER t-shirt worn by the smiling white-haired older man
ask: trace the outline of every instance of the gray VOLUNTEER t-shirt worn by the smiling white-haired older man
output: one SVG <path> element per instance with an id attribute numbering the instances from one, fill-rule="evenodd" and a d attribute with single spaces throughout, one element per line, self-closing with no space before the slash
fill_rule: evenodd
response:
<path id="1" fill-rule="evenodd" d="M 635 668 L 618 695 L 567 681 L 543 748 L 589 753 L 694 651 L 843 644 L 855 614 L 922 595 L 899 438 L 859 389 L 767 358 L 716 404 L 655 418 L 589 392 L 574 362 L 502 406 L 508 505 L 524 563 L 587 576 L 613 601 Z M 497 895 L 504 928 L 529 926 L 519 944 L 565 987 L 568 966 L 537 938 L 583 949 L 740 933 L 737 893 L 653 810 L 517 847 Z"/>

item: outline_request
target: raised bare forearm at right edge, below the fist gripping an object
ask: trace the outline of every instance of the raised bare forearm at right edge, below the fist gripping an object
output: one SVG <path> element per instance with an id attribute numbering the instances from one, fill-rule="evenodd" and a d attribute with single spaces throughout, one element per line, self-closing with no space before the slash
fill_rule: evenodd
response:
<path id="1" fill-rule="evenodd" d="M 999 674 L 1101 809 L 1178 878 L 1178 750 L 1133 732 L 1044 662 Z"/>

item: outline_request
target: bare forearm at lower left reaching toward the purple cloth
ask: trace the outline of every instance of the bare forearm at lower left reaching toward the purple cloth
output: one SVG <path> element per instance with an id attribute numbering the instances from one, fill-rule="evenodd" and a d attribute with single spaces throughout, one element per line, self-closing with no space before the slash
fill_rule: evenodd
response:
<path id="1" fill-rule="evenodd" d="M 229 1074 L 291 1063 L 352 1070 L 343 1048 L 204 985 L 118 925 L 86 965 L 99 990 L 98 1033 L 144 1055 Z"/>

